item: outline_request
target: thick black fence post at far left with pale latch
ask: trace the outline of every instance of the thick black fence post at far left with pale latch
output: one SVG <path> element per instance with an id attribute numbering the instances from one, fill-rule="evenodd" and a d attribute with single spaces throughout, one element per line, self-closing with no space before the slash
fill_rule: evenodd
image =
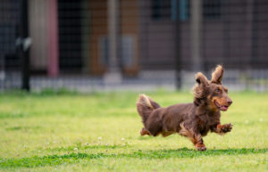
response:
<path id="1" fill-rule="evenodd" d="M 29 30 L 28 30 L 28 0 L 21 0 L 20 23 L 20 50 L 21 58 L 21 89 L 29 91 Z"/>

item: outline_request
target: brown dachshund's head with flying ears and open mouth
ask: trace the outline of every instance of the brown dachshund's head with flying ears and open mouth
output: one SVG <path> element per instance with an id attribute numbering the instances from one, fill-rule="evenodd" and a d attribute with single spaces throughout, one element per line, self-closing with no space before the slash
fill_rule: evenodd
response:
<path id="1" fill-rule="evenodd" d="M 227 111 L 232 101 L 228 89 L 222 86 L 223 68 L 218 65 L 212 73 L 211 80 L 198 72 L 196 75 L 197 86 L 194 87 L 195 103 L 204 103 L 212 111 Z"/>

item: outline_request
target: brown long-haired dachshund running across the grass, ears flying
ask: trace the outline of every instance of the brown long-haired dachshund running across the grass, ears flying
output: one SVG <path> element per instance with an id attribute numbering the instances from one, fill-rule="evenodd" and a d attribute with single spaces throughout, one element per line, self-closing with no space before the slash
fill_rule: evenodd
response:
<path id="1" fill-rule="evenodd" d="M 202 136 L 209 131 L 223 135 L 230 132 L 231 124 L 221 124 L 221 111 L 227 111 L 232 101 L 228 90 L 222 86 L 223 68 L 218 65 L 208 80 L 201 72 L 196 74 L 197 85 L 193 88 L 194 102 L 180 103 L 162 108 L 145 94 L 140 94 L 137 110 L 144 127 L 140 135 L 174 133 L 188 137 L 198 151 L 205 151 Z"/>

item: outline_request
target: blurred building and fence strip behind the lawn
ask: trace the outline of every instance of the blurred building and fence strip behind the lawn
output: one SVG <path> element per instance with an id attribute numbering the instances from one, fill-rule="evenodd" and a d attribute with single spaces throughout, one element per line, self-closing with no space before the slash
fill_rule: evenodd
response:
<path id="1" fill-rule="evenodd" d="M 0 0 L 0 89 L 268 88 L 265 0 Z"/>

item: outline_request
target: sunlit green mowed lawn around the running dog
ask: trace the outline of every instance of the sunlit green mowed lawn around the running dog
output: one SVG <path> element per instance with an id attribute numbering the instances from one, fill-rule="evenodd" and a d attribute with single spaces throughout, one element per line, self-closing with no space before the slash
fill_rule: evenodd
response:
<path id="1" fill-rule="evenodd" d="M 162 106 L 190 93 L 147 93 Z M 140 136 L 138 93 L 0 94 L 0 171 L 268 171 L 268 94 L 231 93 L 224 136 L 197 152 L 180 135 Z"/>

